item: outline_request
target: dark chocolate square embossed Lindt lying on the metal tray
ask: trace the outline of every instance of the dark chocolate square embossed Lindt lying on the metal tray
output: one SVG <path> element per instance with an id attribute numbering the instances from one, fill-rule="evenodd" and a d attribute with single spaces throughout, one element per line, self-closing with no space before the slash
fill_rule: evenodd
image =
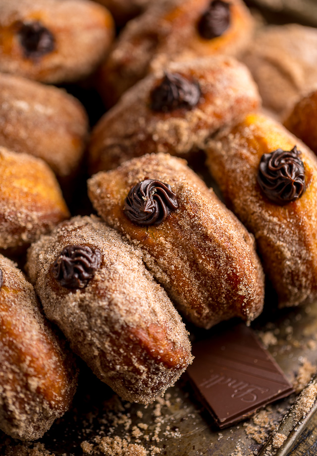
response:
<path id="1" fill-rule="evenodd" d="M 219 428 L 294 392 L 252 329 L 238 325 L 193 345 L 187 373 Z"/>

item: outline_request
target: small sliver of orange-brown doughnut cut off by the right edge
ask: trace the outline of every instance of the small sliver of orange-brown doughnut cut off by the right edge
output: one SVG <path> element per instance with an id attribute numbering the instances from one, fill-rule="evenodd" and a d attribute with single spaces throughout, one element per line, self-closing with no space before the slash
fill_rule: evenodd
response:
<path id="1" fill-rule="evenodd" d="M 284 126 L 317 154 L 317 90 L 302 97 L 285 116 Z"/>

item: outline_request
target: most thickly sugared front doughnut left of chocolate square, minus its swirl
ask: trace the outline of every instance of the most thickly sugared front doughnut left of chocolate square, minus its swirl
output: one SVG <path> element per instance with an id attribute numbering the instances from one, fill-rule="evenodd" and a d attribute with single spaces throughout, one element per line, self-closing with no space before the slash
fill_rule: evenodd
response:
<path id="1" fill-rule="evenodd" d="M 63 288 L 52 265 L 67 245 L 102 252 L 84 289 Z M 148 403 L 192 361 L 188 333 L 141 254 L 96 217 L 75 217 L 28 252 L 28 271 L 46 315 L 73 350 L 121 397 Z"/>

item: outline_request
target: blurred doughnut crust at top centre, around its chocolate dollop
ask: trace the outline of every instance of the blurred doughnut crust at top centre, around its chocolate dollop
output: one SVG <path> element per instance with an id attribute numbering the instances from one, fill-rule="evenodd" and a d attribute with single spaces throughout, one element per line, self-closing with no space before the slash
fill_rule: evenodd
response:
<path id="1" fill-rule="evenodd" d="M 113 105 L 125 90 L 142 79 L 159 58 L 161 65 L 182 53 L 191 57 L 238 55 L 250 40 L 251 15 L 240 0 L 230 1 L 231 25 L 218 38 L 200 37 L 197 23 L 210 0 L 153 2 L 144 14 L 130 21 L 119 36 L 100 73 L 100 91 Z"/>

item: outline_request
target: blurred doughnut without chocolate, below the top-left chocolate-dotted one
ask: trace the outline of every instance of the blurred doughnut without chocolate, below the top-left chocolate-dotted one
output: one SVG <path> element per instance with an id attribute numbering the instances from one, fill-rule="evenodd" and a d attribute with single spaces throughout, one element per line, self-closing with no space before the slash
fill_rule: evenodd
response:
<path id="1" fill-rule="evenodd" d="M 0 74 L 0 145 L 46 161 L 58 177 L 73 176 L 88 137 L 80 102 L 65 91 Z"/>

